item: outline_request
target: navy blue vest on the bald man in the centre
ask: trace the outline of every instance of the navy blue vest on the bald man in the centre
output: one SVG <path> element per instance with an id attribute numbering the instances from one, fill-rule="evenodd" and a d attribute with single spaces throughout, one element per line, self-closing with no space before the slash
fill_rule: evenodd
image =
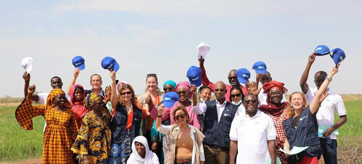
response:
<path id="1" fill-rule="evenodd" d="M 220 147 L 224 151 L 229 151 L 230 146 L 230 127 L 237 111 L 237 106 L 226 102 L 225 109 L 218 121 L 218 112 L 216 110 L 216 100 L 206 101 L 205 112 L 205 138 L 203 143 L 211 147 Z"/>

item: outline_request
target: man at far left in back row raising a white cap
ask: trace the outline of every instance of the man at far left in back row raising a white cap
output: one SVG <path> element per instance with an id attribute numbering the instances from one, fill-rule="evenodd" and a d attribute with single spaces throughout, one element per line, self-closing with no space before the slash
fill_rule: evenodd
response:
<path id="1" fill-rule="evenodd" d="M 26 96 L 28 95 L 28 87 L 29 87 L 29 83 L 30 83 L 30 74 L 28 74 L 25 71 L 25 73 L 23 75 L 23 79 L 25 81 L 25 84 L 24 84 L 24 96 L 26 98 Z M 56 88 L 62 89 L 62 87 L 63 87 L 62 79 L 60 79 L 60 77 L 58 77 L 58 76 L 52 77 L 50 79 L 50 86 L 53 89 L 56 89 Z M 46 100 L 47 100 L 48 95 L 49 95 L 49 93 L 33 94 L 33 96 L 31 97 L 31 100 L 36 101 L 36 102 L 41 102 L 42 104 L 46 105 Z M 70 101 L 69 94 L 66 94 L 66 97 Z M 43 132 L 45 132 L 45 128 L 46 128 L 46 122 L 44 124 Z"/>

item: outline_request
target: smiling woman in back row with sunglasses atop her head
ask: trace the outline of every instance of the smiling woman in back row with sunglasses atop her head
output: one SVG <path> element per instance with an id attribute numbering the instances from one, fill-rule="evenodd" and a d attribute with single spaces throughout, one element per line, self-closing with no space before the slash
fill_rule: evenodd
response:
<path id="1" fill-rule="evenodd" d="M 149 111 L 147 99 L 151 98 L 153 105 L 159 104 L 163 101 L 163 92 L 158 88 L 157 75 L 155 73 L 149 73 L 146 76 L 146 89 L 145 93 L 138 96 L 138 100 L 142 105 L 143 109 Z M 153 118 L 149 115 L 146 120 L 142 123 L 142 134 L 148 140 L 148 145 L 151 145 L 151 129 L 153 125 Z"/>

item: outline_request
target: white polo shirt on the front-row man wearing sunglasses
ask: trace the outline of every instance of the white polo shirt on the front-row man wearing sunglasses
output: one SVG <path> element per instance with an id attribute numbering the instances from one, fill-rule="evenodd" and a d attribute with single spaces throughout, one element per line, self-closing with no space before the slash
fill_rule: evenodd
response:
<path id="1" fill-rule="evenodd" d="M 230 129 L 230 139 L 237 141 L 236 163 L 261 164 L 270 160 L 268 140 L 276 137 L 273 119 L 268 115 L 259 110 L 251 118 L 241 113 Z"/>

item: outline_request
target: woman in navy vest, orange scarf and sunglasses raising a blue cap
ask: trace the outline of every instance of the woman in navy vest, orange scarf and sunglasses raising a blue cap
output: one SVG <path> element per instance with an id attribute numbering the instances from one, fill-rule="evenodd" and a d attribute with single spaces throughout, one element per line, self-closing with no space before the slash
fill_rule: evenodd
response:
<path id="1" fill-rule="evenodd" d="M 126 164 L 127 159 L 131 155 L 131 143 L 136 136 L 140 135 L 143 110 L 137 107 L 137 98 L 132 86 L 120 84 L 117 96 L 115 71 L 111 71 L 109 76 L 112 79 L 111 108 L 114 113 L 110 123 L 112 139 L 109 163 Z M 147 100 L 149 107 L 156 110 L 152 102 L 149 99 Z"/>

